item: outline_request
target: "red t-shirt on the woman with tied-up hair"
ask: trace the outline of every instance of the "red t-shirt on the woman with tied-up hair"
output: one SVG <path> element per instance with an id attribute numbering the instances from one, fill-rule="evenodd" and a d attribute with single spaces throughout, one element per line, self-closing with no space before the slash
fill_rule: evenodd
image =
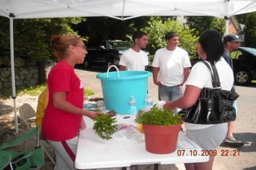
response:
<path id="1" fill-rule="evenodd" d="M 42 121 L 42 134 L 47 140 L 70 140 L 78 135 L 82 115 L 67 113 L 54 108 L 53 93 L 66 92 L 66 101 L 82 109 L 83 85 L 73 67 L 65 61 L 58 61 L 50 70 L 47 80 L 49 101 Z"/>

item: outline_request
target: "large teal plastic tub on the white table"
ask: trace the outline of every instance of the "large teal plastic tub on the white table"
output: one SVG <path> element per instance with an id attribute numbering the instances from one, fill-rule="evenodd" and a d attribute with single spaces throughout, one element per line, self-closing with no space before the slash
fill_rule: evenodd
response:
<path id="1" fill-rule="evenodd" d="M 118 76 L 119 75 L 119 76 Z M 114 109 L 118 114 L 129 115 L 130 96 L 135 97 L 137 110 L 145 109 L 148 71 L 115 71 L 96 75 L 102 83 L 102 93 L 107 110 Z"/>

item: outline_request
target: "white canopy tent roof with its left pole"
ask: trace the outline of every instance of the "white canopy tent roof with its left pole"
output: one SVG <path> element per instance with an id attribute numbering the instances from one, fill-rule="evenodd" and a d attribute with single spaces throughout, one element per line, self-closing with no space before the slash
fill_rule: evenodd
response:
<path id="1" fill-rule="evenodd" d="M 13 19 L 106 16 L 215 16 L 228 18 L 256 11 L 256 0 L 1 0 L 0 16 L 10 18 L 10 61 L 16 132 Z"/>

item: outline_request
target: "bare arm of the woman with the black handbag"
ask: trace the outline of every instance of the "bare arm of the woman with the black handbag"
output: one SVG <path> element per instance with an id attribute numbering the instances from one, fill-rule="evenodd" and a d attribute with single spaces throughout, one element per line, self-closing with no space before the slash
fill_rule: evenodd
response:
<path id="1" fill-rule="evenodd" d="M 187 109 L 190 108 L 198 100 L 198 96 L 201 93 L 200 88 L 194 85 L 186 85 L 185 93 L 176 101 L 167 101 L 164 107 L 166 109 Z"/>

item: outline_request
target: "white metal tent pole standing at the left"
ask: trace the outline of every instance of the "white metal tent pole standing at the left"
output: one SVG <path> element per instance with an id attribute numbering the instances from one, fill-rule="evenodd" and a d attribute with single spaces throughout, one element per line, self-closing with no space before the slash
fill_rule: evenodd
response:
<path id="1" fill-rule="evenodd" d="M 14 18 L 10 14 L 10 69 L 11 69 L 11 85 L 12 85 L 12 98 L 14 100 L 14 121 L 16 133 L 18 133 L 18 117 L 16 114 L 16 89 L 15 89 L 15 73 L 14 73 Z"/>

